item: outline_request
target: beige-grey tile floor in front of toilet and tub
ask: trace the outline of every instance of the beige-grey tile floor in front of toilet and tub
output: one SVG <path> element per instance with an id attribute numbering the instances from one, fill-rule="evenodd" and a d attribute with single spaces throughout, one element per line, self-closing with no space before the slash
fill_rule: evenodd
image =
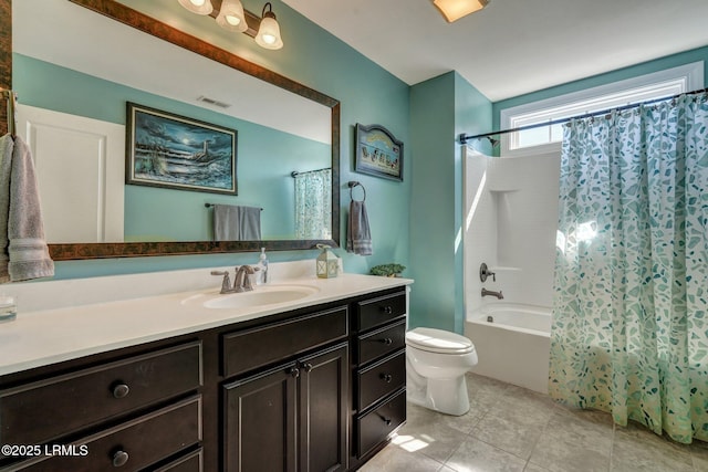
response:
<path id="1" fill-rule="evenodd" d="M 708 443 L 677 444 L 610 415 L 468 374 L 470 411 L 408 403 L 408 422 L 363 472 L 707 472 Z"/>

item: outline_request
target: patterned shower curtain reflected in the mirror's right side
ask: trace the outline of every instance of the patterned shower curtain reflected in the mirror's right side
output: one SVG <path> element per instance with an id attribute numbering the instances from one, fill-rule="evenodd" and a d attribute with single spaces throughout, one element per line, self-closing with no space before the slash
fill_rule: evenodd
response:
<path id="1" fill-rule="evenodd" d="M 295 176 L 295 238 L 332 239 L 332 169 Z"/>

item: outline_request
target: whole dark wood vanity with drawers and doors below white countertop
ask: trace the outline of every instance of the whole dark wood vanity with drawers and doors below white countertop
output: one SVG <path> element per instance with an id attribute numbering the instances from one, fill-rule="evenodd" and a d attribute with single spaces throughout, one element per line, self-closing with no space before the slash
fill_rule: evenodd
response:
<path id="1" fill-rule="evenodd" d="M 398 286 L 4 375 L 0 471 L 356 470 L 406 419 L 405 313 Z"/>

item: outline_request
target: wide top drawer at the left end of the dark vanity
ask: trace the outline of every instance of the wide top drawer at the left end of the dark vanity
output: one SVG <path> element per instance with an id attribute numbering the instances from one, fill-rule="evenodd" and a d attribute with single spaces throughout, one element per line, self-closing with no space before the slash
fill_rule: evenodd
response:
<path id="1" fill-rule="evenodd" d="M 201 386 L 194 342 L 0 391 L 0 443 L 41 444 Z"/>

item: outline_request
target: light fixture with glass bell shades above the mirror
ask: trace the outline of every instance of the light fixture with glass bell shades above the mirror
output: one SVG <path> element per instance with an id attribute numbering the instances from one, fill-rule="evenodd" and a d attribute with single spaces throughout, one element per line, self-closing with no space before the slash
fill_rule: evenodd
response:
<path id="1" fill-rule="evenodd" d="M 211 0 L 177 0 L 187 10 L 197 14 L 211 14 Z M 247 20 L 248 19 L 248 20 Z M 273 7 L 270 2 L 263 6 L 261 18 L 243 9 L 240 0 L 222 0 L 219 14 L 216 15 L 219 27 L 229 31 L 238 31 L 256 40 L 264 49 L 278 50 L 283 46 L 280 25 L 275 20 Z M 251 24 L 249 25 L 249 21 Z M 257 32 L 258 29 L 258 32 Z"/>

